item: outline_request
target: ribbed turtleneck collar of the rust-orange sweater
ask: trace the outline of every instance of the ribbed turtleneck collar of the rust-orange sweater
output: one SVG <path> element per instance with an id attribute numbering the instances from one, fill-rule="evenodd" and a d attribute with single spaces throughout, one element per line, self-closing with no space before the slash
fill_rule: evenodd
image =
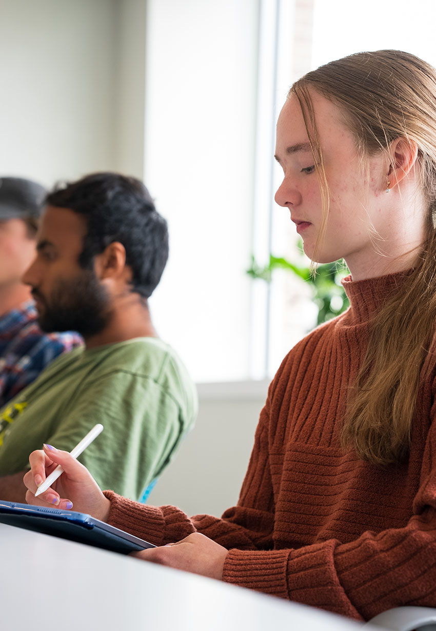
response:
<path id="1" fill-rule="evenodd" d="M 342 285 L 350 300 L 350 310 L 346 314 L 347 324 L 368 321 L 383 307 L 392 293 L 398 292 L 410 273 L 411 270 L 358 281 L 346 276 Z"/>

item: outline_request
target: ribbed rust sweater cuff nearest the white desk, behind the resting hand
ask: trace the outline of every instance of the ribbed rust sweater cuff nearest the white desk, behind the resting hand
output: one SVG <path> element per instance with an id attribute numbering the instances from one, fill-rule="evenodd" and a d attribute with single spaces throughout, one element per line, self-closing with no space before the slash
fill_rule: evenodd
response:
<path id="1" fill-rule="evenodd" d="M 286 567 L 290 550 L 237 550 L 228 552 L 223 581 L 289 598 Z"/>

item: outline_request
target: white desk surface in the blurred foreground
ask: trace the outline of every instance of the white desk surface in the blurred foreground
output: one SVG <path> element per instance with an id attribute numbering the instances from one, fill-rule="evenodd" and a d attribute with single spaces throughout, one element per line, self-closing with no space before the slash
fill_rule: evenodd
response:
<path id="1" fill-rule="evenodd" d="M 5 631 L 361 628 L 324 611 L 5 524 L 0 550 Z"/>

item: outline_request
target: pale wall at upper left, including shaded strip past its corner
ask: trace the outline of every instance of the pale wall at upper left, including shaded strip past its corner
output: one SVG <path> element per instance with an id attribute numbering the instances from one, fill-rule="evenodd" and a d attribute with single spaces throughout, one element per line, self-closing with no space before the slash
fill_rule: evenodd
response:
<path id="1" fill-rule="evenodd" d="M 0 0 L 0 174 L 143 177 L 144 0 Z"/>

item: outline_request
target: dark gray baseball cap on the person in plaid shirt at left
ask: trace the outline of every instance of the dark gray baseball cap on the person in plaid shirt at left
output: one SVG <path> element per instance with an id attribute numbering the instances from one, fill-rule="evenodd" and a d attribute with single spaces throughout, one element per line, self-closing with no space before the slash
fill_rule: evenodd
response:
<path id="1" fill-rule="evenodd" d="M 38 218 L 47 194 L 44 186 L 22 177 L 0 177 L 0 220 Z"/>

